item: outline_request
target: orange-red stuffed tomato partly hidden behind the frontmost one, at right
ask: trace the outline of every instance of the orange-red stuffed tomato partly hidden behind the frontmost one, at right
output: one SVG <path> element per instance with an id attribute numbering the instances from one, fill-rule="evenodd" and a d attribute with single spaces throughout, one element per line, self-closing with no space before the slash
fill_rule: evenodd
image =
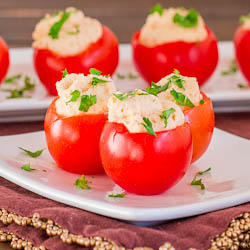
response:
<path id="1" fill-rule="evenodd" d="M 159 82 L 152 83 L 152 87 L 146 91 L 181 107 L 192 132 L 192 162 L 199 159 L 210 144 L 215 122 L 212 101 L 200 92 L 197 79 L 182 76 L 178 70 L 174 70 Z"/>

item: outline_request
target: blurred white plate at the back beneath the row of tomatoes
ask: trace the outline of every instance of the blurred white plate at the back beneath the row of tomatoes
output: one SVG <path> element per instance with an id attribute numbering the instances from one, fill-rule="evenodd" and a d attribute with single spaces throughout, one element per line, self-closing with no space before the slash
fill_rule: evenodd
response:
<path id="1" fill-rule="evenodd" d="M 48 96 L 43 85 L 37 78 L 32 62 L 31 48 L 10 49 L 11 67 L 9 76 L 22 73 L 36 82 L 32 98 L 6 99 L 8 94 L 0 91 L 0 122 L 21 120 L 42 120 L 53 97 Z M 247 85 L 240 72 L 222 76 L 221 72 L 228 70 L 234 58 L 232 42 L 219 42 L 220 60 L 213 77 L 202 87 L 211 97 L 215 112 L 250 111 L 250 88 L 238 88 L 239 83 Z M 120 46 L 120 63 L 117 73 L 137 74 L 132 62 L 132 52 L 129 44 Z M 121 80 L 114 75 L 117 88 L 128 91 L 135 88 L 146 88 L 147 83 L 142 78 Z"/>

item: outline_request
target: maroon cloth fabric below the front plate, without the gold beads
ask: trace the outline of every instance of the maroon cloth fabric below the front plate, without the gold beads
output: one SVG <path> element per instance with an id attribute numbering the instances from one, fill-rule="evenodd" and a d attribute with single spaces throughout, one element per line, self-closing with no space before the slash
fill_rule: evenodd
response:
<path id="1" fill-rule="evenodd" d="M 140 227 L 43 198 L 3 178 L 0 178 L 0 184 L 0 208 L 27 217 L 32 217 L 37 212 L 42 218 L 52 219 L 70 233 L 106 237 L 126 248 L 158 249 L 168 241 L 176 250 L 187 250 L 191 247 L 205 250 L 215 235 L 226 230 L 233 217 L 250 211 L 250 203 L 247 203 L 200 216 L 165 222 L 158 226 Z M 82 249 L 79 246 L 66 245 L 59 237 L 49 237 L 44 231 L 32 227 L 0 224 L 0 229 L 24 237 L 35 246 L 43 245 L 47 249 Z"/>

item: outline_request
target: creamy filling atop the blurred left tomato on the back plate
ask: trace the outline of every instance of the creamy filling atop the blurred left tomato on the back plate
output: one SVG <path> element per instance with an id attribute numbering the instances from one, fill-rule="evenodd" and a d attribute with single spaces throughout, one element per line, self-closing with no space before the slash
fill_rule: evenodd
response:
<path id="1" fill-rule="evenodd" d="M 67 16 L 66 20 L 62 20 Z M 64 22 L 63 22 L 64 21 Z M 51 27 L 56 22 L 63 22 L 58 38 L 53 38 Z M 86 17 L 82 11 L 67 8 L 65 12 L 47 14 L 35 27 L 32 34 L 32 46 L 37 49 L 48 49 L 60 56 L 74 56 L 88 48 L 102 37 L 102 25 L 93 18 Z"/>

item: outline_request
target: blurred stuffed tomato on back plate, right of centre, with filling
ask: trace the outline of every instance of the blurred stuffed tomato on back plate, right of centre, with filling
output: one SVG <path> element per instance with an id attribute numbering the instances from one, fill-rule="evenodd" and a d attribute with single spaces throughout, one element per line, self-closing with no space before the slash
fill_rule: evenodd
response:
<path id="1" fill-rule="evenodd" d="M 133 59 L 149 83 L 180 70 L 204 84 L 218 62 L 216 37 L 193 9 L 153 9 L 132 38 Z"/>

